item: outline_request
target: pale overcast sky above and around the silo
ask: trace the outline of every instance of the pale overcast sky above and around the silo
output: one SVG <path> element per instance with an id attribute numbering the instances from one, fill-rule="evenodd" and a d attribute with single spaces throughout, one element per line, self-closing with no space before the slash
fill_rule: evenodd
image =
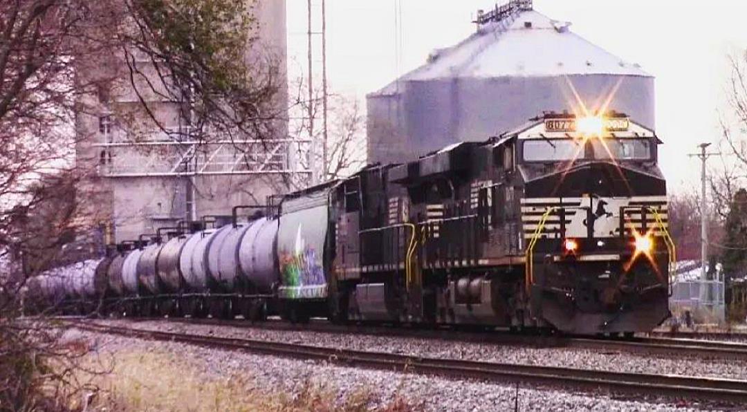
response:
<path id="1" fill-rule="evenodd" d="M 398 3 L 400 61 L 394 47 Z M 327 0 L 330 87 L 365 100 L 366 93 L 421 66 L 433 49 L 468 37 L 477 9 L 494 5 L 492 0 Z M 660 163 L 670 187 L 692 186 L 699 165 L 686 153 L 719 140 L 726 55 L 747 47 L 747 1 L 535 0 L 534 8 L 571 22 L 571 31 L 656 77 L 657 134 L 665 143 Z M 306 1 L 288 0 L 291 75 L 306 66 L 305 32 Z"/>

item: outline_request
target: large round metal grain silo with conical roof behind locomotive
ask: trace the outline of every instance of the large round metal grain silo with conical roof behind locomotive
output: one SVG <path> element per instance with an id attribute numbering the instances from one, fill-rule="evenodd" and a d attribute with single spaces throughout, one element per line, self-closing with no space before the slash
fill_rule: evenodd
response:
<path id="1" fill-rule="evenodd" d="M 478 12 L 477 32 L 368 95 L 370 162 L 485 140 L 542 111 L 604 105 L 654 128 L 654 78 L 513 0 Z"/>

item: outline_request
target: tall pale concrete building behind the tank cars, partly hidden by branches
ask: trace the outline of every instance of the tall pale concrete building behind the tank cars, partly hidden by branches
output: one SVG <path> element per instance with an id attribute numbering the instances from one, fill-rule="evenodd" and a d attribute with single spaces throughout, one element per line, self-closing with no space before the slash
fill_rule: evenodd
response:
<path id="1" fill-rule="evenodd" d="M 254 8 L 258 19 L 255 44 L 260 46 L 247 51 L 249 64 L 252 59 L 260 60 L 260 52 L 270 52 L 283 76 L 287 60 L 285 7 L 283 0 L 258 1 Z M 137 66 L 155 76 L 147 59 L 137 61 Z M 101 75 L 110 69 L 116 68 L 97 62 L 86 75 Z M 81 184 L 86 209 L 81 215 L 93 219 L 106 233 L 108 243 L 137 239 L 139 234 L 154 233 L 156 228 L 173 226 L 180 220 L 230 215 L 235 205 L 264 205 L 268 195 L 286 190 L 295 173 L 305 173 L 294 169 L 287 114 L 279 116 L 271 140 L 258 142 L 247 137 L 241 144 L 180 141 L 190 125 L 179 116 L 179 102 L 164 101 L 156 93 L 143 97 L 170 133 L 149 125 L 144 114 L 140 114 L 143 119 L 136 114 L 134 122 L 130 119 L 127 125 L 118 119 L 121 113 L 138 113 L 141 106 L 140 96 L 127 81 L 122 83 L 125 87 L 114 87 L 106 96 L 85 97 L 88 106 L 99 107 L 99 113 L 81 114 L 76 122 L 76 159 L 91 171 Z M 278 112 L 287 113 L 287 81 L 283 78 L 279 83 Z"/>

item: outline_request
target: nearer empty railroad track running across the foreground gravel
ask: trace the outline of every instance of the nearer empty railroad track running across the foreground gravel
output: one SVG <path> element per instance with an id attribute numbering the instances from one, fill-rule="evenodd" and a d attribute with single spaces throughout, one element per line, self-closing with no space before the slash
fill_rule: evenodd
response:
<path id="1" fill-rule="evenodd" d="M 674 399 L 699 399 L 710 402 L 747 402 L 747 381 L 731 379 L 650 375 L 553 366 L 423 358 L 382 352 L 363 352 L 297 345 L 294 343 L 182 334 L 167 331 L 149 331 L 102 325 L 83 320 L 69 320 L 68 322 L 76 328 L 102 334 L 117 334 L 125 337 L 173 341 L 217 349 L 254 352 L 263 355 L 326 361 L 342 366 L 439 375 L 446 378 L 473 378 L 482 381 L 518 382 L 525 385 L 568 387 L 591 392 L 627 393 L 634 394 L 636 399 L 642 395 L 651 395 Z"/>

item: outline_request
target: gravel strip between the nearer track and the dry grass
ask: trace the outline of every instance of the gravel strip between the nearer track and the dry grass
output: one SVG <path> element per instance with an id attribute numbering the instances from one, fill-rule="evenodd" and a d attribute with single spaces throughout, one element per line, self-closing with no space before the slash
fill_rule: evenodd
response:
<path id="1" fill-rule="evenodd" d="M 371 393 L 373 410 L 401 397 L 425 411 L 513 411 L 516 387 L 476 381 L 447 380 L 424 375 L 333 366 L 326 362 L 297 361 L 273 356 L 206 349 L 184 343 L 166 343 L 68 331 L 84 339 L 91 356 L 114 359 L 120 352 L 172 354 L 179 363 L 199 370 L 205 379 L 246 376 L 258 390 L 294 395 L 309 383 L 322 384 L 345 399 L 364 390 Z M 174 365 L 182 367 L 182 365 Z M 656 403 L 613 399 L 610 396 L 567 393 L 560 390 L 519 387 L 519 411 L 702 411 L 705 405 Z"/>

